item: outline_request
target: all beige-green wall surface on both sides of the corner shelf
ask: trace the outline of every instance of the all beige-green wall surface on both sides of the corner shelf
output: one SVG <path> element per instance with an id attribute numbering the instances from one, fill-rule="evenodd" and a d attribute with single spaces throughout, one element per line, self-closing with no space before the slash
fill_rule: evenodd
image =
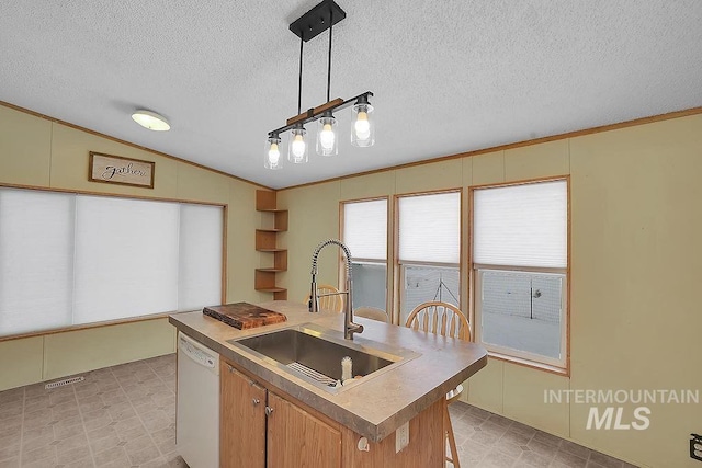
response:
<path id="1" fill-rule="evenodd" d="M 88 182 L 90 150 L 156 161 L 155 189 Z M 340 201 L 458 187 L 466 201 L 471 185 L 570 174 L 571 375 L 490 359 L 469 379 L 467 400 L 636 465 L 694 468 L 688 438 L 702 431 L 699 404 L 650 406 L 646 431 L 588 431 L 589 404 L 545 403 L 543 393 L 702 390 L 701 173 L 702 115 L 694 115 L 285 190 L 279 207 L 290 210 L 290 229 L 280 238 L 290 256 L 281 284 L 291 300 L 307 295 L 314 248 L 339 236 Z M 0 106 L 3 183 L 227 204 L 227 300 L 270 299 L 253 290 L 253 269 L 270 259 L 254 250 L 262 219 L 252 184 Z M 465 258 L 467 216 L 463 226 Z M 322 252 L 320 282 L 338 281 L 338 259 L 331 248 Z M 0 390 L 173 351 L 163 319 L 4 341 Z"/>

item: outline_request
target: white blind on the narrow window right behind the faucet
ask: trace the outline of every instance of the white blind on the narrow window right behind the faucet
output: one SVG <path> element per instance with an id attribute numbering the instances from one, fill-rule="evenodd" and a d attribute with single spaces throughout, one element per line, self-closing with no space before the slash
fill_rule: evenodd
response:
<path id="1" fill-rule="evenodd" d="M 343 205 L 343 242 L 353 259 L 387 258 L 387 201 L 353 202 Z"/>

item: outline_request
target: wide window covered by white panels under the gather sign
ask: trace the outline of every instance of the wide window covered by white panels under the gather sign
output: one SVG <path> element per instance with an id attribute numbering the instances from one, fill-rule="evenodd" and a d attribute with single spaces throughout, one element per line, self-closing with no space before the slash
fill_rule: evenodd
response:
<path id="1" fill-rule="evenodd" d="M 222 206 L 0 189 L 0 335 L 222 300 Z"/>

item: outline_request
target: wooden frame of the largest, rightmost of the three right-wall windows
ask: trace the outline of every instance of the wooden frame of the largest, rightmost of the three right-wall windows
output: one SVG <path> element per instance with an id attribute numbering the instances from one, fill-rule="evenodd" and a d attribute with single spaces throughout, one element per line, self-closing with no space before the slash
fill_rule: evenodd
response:
<path id="1" fill-rule="evenodd" d="M 485 189 L 509 187 L 520 185 L 531 185 L 545 182 L 564 181 L 566 183 L 566 266 L 565 269 L 555 267 L 534 267 L 534 266 L 514 266 L 514 265 L 491 265 L 478 264 L 473 262 L 474 256 L 474 227 L 475 227 L 475 192 Z M 537 178 L 522 181 L 492 183 L 483 185 L 472 185 L 468 187 L 468 252 L 467 252 L 467 273 L 468 273 L 468 303 L 469 303 L 469 321 L 473 327 L 473 340 L 483 345 L 490 357 L 500 361 L 511 362 L 526 367 L 546 370 L 557 375 L 570 375 L 570 175 L 555 175 L 550 178 Z M 483 333 L 478 324 L 482 322 L 482 304 L 480 295 L 480 270 L 489 271 L 514 271 L 524 273 L 557 273 L 563 274 L 565 284 L 562 286 L 562 308 L 563 320 L 561 323 L 561 351 L 563 358 L 553 359 L 548 356 L 537 355 L 520 350 L 508 349 L 495 344 L 485 343 L 482 340 Z"/>

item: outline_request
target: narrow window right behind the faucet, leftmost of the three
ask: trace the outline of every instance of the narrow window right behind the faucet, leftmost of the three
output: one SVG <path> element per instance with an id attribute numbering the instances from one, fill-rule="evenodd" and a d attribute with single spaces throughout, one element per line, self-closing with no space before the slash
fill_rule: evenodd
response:
<path id="1" fill-rule="evenodd" d="M 352 255 L 353 307 L 387 310 L 387 199 L 344 203 L 342 237 Z"/>

